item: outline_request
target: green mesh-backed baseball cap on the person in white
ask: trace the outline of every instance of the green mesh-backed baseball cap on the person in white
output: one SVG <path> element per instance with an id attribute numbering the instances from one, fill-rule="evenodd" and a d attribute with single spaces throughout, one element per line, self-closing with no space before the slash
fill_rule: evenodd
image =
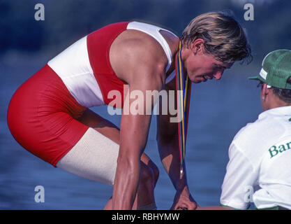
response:
<path id="1" fill-rule="evenodd" d="M 260 74 L 248 79 L 261 80 L 267 85 L 291 90 L 291 84 L 287 83 L 290 76 L 291 50 L 274 50 L 264 57 Z"/>

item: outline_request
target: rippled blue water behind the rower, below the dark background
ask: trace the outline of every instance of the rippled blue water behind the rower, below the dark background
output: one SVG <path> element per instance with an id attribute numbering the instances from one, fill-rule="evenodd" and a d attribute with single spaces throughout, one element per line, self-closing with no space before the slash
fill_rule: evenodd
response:
<path id="1" fill-rule="evenodd" d="M 0 56 L 0 209 L 103 209 L 112 187 L 52 167 L 25 151 L 8 130 L 7 107 L 13 92 L 50 57 L 21 52 Z M 258 72 L 252 68 L 235 64 L 222 80 L 192 86 L 186 167 L 188 186 L 202 207 L 219 204 L 228 146 L 234 134 L 262 112 L 257 83 L 246 79 Z M 108 115 L 105 106 L 93 110 L 119 125 L 120 116 Z M 157 207 L 169 209 L 175 191 L 159 159 L 155 117 L 145 152 L 160 169 Z M 44 203 L 34 201 L 36 186 L 45 188 Z"/>

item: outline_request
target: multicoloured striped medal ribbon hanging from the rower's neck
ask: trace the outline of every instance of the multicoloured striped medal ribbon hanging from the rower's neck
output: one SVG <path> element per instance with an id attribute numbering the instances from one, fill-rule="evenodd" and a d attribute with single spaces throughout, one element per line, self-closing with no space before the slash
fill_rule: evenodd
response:
<path id="1" fill-rule="evenodd" d="M 186 137 L 188 129 L 188 116 L 191 97 L 191 81 L 188 75 L 184 76 L 183 65 L 181 61 L 182 44 L 179 42 L 179 50 L 176 55 L 175 69 L 176 69 L 176 86 L 177 86 L 177 112 L 179 130 L 179 151 L 181 162 L 181 175 L 183 174 L 183 165 L 186 153 Z"/>

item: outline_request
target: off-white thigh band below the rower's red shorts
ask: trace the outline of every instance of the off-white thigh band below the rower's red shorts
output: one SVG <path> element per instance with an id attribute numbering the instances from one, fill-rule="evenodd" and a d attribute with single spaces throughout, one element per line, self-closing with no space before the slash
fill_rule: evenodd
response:
<path id="1" fill-rule="evenodd" d="M 119 145 L 89 127 L 80 141 L 57 163 L 66 172 L 113 185 Z"/>

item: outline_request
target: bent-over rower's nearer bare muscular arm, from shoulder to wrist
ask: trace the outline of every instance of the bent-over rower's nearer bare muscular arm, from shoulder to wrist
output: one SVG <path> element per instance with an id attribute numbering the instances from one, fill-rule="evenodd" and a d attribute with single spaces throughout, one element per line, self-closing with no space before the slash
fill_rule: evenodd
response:
<path id="1" fill-rule="evenodd" d="M 146 100 L 147 91 L 160 91 L 165 62 L 151 39 L 139 36 L 112 44 L 112 67 L 129 84 L 121 116 L 120 147 L 114 179 L 112 209 L 131 209 L 140 179 L 140 156 L 147 144 L 154 100 Z M 143 34 L 144 35 L 144 34 Z M 121 47 L 122 46 L 122 47 Z M 163 53 L 163 52 L 162 52 Z M 119 55 L 119 57 L 118 57 Z M 136 95 L 135 95 L 136 94 Z M 135 98 L 133 97 L 135 95 Z M 138 95 L 138 97 L 137 97 Z M 133 98 L 133 99 L 130 99 Z M 135 109 L 138 113 L 134 114 Z"/>

